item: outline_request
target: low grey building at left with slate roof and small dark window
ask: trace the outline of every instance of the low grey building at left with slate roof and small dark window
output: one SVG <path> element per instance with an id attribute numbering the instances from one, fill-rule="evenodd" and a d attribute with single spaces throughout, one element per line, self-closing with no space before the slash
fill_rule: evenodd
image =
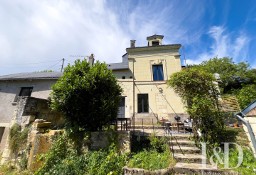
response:
<path id="1" fill-rule="evenodd" d="M 33 72 L 0 76 L 0 152 L 6 145 L 19 96 L 47 99 L 51 86 L 61 75 L 60 72 Z"/>

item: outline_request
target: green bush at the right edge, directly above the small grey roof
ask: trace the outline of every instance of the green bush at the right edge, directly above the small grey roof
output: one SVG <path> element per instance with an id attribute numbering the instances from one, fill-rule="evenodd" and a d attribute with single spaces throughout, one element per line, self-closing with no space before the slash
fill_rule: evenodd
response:
<path id="1" fill-rule="evenodd" d="M 244 86 L 240 91 L 236 91 L 236 97 L 241 109 L 256 100 L 256 84 Z"/>

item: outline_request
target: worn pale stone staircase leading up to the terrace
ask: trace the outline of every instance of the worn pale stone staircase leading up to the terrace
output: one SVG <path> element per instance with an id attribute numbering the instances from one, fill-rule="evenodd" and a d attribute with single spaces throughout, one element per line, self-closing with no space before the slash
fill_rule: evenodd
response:
<path id="1" fill-rule="evenodd" d="M 177 163 L 174 172 L 181 174 L 227 174 L 218 170 L 216 166 L 206 163 L 207 158 L 201 154 L 201 150 L 195 146 L 195 142 L 190 140 L 190 135 L 173 135 L 170 141 L 170 149 L 174 154 Z"/>

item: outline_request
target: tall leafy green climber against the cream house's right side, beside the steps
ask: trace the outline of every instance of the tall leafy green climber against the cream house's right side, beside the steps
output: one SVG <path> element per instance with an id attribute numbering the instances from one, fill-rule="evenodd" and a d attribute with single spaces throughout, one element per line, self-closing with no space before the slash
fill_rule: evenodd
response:
<path id="1" fill-rule="evenodd" d="M 187 112 L 193 119 L 194 134 L 201 130 L 205 142 L 220 143 L 220 135 L 224 129 L 223 113 L 220 111 L 219 91 L 214 84 L 211 73 L 200 67 L 183 69 L 174 73 L 168 84 L 183 99 Z"/>

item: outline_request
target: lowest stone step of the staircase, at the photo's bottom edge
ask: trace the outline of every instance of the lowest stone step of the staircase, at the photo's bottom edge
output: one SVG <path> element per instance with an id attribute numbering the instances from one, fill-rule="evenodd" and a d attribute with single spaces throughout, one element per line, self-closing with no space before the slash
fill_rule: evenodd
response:
<path id="1" fill-rule="evenodd" d="M 182 163 L 178 162 L 174 166 L 175 173 L 183 174 L 222 174 L 223 171 L 218 170 L 216 166 L 206 164 L 205 166 L 201 163 Z"/>

